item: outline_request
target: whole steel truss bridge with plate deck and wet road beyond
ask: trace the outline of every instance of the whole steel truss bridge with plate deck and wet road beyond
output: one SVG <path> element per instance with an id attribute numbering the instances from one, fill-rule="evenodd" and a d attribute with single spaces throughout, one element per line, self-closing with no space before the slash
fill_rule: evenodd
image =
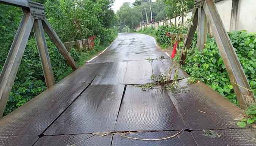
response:
<path id="1" fill-rule="evenodd" d="M 24 11 L 0 76 L 1 110 L 7 102 L 32 28 L 48 87 L 48 90 L 0 120 L 0 145 L 256 145 L 255 131 L 236 124 L 236 119 L 244 112 L 204 83 L 188 84 L 188 74 L 158 49 L 154 38 L 136 33 L 119 34 L 102 54 L 77 68 L 42 14 L 41 4 L 26 0 L 0 2 L 22 7 Z M 197 2 L 199 5 L 196 5 L 195 16 L 202 17 L 201 20 L 207 16 L 212 20 L 215 35 L 219 37 L 216 41 L 230 78 L 233 77 L 237 84 L 242 82 L 239 84 L 247 85 L 247 80 L 242 80 L 244 73 L 240 70 L 242 68 L 236 54 L 230 50 L 232 45 L 226 31 L 220 28 L 222 24 L 213 0 Z M 196 17 L 194 20 L 197 20 Z M 186 35 L 184 46 L 187 48 L 191 44 L 196 23 L 194 21 L 194 27 L 191 26 Z M 199 24 L 199 34 L 202 34 L 199 36 L 204 37 L 202 25 Z M 75 70 L 57 84 L 52 76 L 43 30 Z M 183 51 L 181 63 L 185 55 Z M 180 88 L 177 91 L 164 91 L 161 87 L 143 91 L 138 87 L 152 82 L 150 77 L 153 74 L 166 73 L 170 66 L 173 66 L 172 75 L 174 69 L 178 69 Z M 236 93 L 251 94 L 238 87 Z M 254 99 L 253 95 L 250 97 Z M 247 98 L 241 96 L 240 100 L 244 101 L 241 107 L 248 105 Z M 215 138 L 209 137 L 212 134 L 215 134 Z"/>

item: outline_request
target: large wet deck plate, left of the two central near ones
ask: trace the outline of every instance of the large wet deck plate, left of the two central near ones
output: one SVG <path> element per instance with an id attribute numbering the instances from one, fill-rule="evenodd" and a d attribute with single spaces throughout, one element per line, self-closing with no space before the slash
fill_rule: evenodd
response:
<path id="1" fill-rule="evenodd" d="M 124 85 L 90 85 L 45 135 L 113 131 Z"/>

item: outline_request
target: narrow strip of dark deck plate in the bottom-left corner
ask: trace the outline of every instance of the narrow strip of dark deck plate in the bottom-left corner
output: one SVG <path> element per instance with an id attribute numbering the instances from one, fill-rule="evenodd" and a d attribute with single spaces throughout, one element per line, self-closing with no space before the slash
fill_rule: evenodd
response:
<path id="1" fill-rule="evenodd" d="M 0 146 L 32 146 L 38 138 L 36 135 L 0 137 Z"/>

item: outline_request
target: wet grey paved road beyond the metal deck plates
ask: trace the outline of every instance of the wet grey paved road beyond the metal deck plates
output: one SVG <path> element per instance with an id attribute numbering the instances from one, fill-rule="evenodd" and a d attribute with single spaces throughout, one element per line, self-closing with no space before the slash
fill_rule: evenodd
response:
<path id="1" fill-rule="evenodd" d="M 152 37 L 127 33 L 120 34 L 116 42 L 91 62 L 138 61 L 155 59 L 159 56 L 168 57 L 156 47 Z"/>

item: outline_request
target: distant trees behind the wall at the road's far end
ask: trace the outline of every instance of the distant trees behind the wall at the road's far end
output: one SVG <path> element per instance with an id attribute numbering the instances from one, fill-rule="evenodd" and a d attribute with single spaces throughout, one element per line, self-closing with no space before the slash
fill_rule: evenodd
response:
<path id="1" fill-rule="evenodd" d="M 134 29 L 140 22 L 143 25 L 172 18 L 192 9 L 193 4 L 193 0 L 135 0 L 132 5 L 125 2 L 117 11 L 119 31 L 124 27 Z"/>

